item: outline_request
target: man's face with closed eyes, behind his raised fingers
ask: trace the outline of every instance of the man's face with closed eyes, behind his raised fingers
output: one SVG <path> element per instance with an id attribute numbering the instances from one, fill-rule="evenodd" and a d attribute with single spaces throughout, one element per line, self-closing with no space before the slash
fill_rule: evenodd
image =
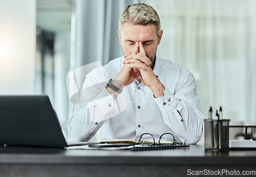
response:
<path id="1" fill-rule="evenodd" d="M 155 25 L 132 25 L 127 22 L 122 24 L 121 32 L 118 30 L 119 42 L 123 48 L 125 57 L 131 55 L 136 41 L 141 41 L 146 56 L 151 61 L 155 59 L 157 46 L 161 41 L 162 33 L 163 31 L 161 30 L 159 36 L 157 36 Z"/>

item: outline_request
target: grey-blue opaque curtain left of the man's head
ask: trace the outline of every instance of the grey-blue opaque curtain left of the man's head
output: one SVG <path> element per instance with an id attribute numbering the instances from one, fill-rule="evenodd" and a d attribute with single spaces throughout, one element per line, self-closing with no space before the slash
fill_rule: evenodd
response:
<path id="1" fill-rule="evenodd" d="M 143 0 L 76 0 L 75 68 L 94 61 L 107 64 L 123 55 L 119 17 L 126 6 Z"/>

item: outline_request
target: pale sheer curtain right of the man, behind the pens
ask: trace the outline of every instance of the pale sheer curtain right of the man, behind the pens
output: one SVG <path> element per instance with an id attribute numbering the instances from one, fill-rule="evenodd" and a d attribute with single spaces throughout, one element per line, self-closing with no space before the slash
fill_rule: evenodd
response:
<path id="1" fill-rule="evenodd" d="M 145 0 L 160 16 L 158 55 L 193 72 L 203 115 L 256 122 L 254 0 Z"/>

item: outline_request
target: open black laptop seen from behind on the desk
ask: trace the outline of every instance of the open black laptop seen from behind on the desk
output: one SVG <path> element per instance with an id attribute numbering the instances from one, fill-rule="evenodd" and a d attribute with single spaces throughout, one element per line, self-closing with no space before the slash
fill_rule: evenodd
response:
<path id="1" fill-rule="evenodd" d="M 0 96 L 0 145 L 61 147 L 68 144 L 46 95 Z"/>

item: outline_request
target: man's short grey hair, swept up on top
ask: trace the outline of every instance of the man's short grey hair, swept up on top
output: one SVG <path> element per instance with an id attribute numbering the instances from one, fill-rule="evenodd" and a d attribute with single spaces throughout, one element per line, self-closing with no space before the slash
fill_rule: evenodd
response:
<path id="1" fill-rule="evenodd" d="M 133 25 L 155 25 L 157 36 L 161 30 L 160 18 L 156 10 L 144 3 L 138 3 L 127 6 L 119 19 L 119 31 L 122 30 L 122 24 L 129 22 Z"/>

